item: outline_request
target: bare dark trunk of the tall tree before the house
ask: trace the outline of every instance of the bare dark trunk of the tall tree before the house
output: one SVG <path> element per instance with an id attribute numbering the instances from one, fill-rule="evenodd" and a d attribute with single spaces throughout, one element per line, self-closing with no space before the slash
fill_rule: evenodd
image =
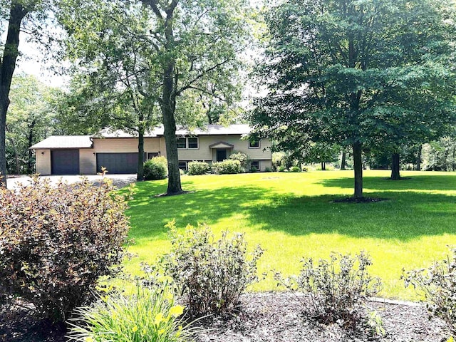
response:
<path id="1" fill-rule="evenodd" d="M 167 195 L 175 195 L 182 192 L 180 184 L 179 157 L 177 155 L 177 139 L 176 139 L 176 95 L 174 87 L 174 71 L 175 63 L 168 63 L 165 68 L 163 77 L 163 96 L 162 96 L 162 115 L 163 127 L 165 128 L 165 146 L 166 157 L 168 162 L 168 188 Z"/>

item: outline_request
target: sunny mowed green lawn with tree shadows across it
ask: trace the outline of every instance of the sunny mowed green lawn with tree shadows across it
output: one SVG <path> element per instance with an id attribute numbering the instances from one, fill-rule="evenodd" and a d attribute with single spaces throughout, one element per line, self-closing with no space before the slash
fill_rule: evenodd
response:
<path id="1" fill-rule="evenodd" d="M 353 193 L 353 171 L 183 176 L 190 193 L 155 197 L 167 182 L 140 182 L 130 200 L 129 251 L 125 263 L 138 274 L 170 246 L 165 224 L 205 222 L 214 233 L 244 232 L 250 247 L 265 249 L 259 273 L 266 279 L 251 291 L 276 289 L 271 270 L 297 274 L 303 257 L 367 251 L 371 273 L 383 280 L 381 296 L 416 299 L 400 280 L 402 269 L 429 266 L 456 246 L 456 173 L 402 172 L 408 180 L 386 180 L 388 171 L 365 171 L 364 191 L 383 202 L 333 202 Z"/>

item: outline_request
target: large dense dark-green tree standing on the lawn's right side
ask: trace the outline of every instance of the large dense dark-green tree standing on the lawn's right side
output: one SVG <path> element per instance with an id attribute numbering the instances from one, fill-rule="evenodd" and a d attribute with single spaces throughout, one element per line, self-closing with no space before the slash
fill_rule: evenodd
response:
<path id="1" fill-rule="evenodd" d="M 381 145 L 404 122 L 419 130 L 418 103 L 432 117 L 452 118 L 454 21 L 444 20 L 452 19 L 444 5 L 289 0 L 271 7 L 259 70 L 268 93 L 250 118 L 258 135 L 289 149 L 309 141 L 351 146 L 354 197 L 361 199 L 366 145 Z"/>

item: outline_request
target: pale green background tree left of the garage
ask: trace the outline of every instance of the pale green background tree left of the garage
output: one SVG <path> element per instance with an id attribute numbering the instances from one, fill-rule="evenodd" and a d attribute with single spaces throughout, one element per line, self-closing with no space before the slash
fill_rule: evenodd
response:
<path id="1" fill-rule="evenodd" d="M 14 76 L 10 92 L 11 104 L 6 115 L 6 159 L 9 172 L 18 175 L 33 173 L 34 160 L 29 147 L 53 133 L 53 99 L 57 95 L 58 90 L 45 86 L 34 76 Z"/>

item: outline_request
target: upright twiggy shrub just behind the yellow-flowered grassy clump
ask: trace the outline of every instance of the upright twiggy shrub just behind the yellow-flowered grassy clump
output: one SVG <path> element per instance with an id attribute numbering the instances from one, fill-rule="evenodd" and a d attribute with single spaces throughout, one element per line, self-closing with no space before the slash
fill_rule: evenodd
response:
<path id="1" fill-rule="evenodd" d="M 260 247 L 247 253 L 243 234 L 228 237 L 223 232 L 215 241 L 209 227 L 187 226 L 178 234 L 175 222 L 167 224 L 171 252 L 161 259 L 165 273 L 175 280 L 182 301 L 193 317 L 230 311 L 249 284 L 258 280 Z"/>

